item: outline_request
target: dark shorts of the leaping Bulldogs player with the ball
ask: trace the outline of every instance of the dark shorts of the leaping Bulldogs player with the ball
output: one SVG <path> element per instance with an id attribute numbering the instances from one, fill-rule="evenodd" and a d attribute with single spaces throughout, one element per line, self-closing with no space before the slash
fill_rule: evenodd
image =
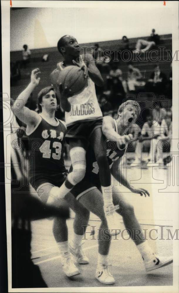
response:
<path id="1" fill-rule="evenodd" d="M 69 138 L 84 139 L 89 141 L 93 131 L 102 127 L 102 117 L 96 120 L 89 120 L 86 122 L 77 122 L 67 126 L 67 133 L 65 135 L 66 142 L 69 143 Z"/>

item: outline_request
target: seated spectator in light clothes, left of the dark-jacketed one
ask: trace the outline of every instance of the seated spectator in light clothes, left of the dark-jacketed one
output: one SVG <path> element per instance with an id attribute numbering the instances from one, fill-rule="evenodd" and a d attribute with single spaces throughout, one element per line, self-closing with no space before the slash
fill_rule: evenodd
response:
<path id="1" fill-rule="evenodd" d="M 142 77 L 141 72 L 138 68 L 134 67 L 132 62 L 128 63 L 128 72 L 127 72 L 127 85 L 129 91 L 135 91 L 136 86 L 144 86 L 145 82 L 137 81 Z"/>

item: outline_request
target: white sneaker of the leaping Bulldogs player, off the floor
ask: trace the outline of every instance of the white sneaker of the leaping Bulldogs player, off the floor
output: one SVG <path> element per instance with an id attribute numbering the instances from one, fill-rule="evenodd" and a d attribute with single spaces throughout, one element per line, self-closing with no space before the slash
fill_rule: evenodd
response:
<path id="1" fill-rule="evenodd" d="M 104 213 L 107 219 L 109 233 L 111 235 L 117 235 L 119 230 L 119 219 L 115 213 L 116 209 L 119 209 L 119 205 L 114 206 L 112 203 L 104 206 Z"/>

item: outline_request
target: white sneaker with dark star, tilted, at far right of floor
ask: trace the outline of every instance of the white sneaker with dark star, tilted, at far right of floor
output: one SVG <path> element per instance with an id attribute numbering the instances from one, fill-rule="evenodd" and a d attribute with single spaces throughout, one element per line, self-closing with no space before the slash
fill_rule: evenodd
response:
<path id="1" fill-rule="evenodd" d="M 151 260 L 148 262 L 144 261 L 144 265 L 146 268 L 146 271 L 152 271 L 156 270 L 158 268 L 162 268 L 166 265 L 169 265 L 170 263 L 173 263 L 173 258 L 172 257 L 157 257 L 155 253 L 153 253 L 153 258 L 151 257 Z"/>

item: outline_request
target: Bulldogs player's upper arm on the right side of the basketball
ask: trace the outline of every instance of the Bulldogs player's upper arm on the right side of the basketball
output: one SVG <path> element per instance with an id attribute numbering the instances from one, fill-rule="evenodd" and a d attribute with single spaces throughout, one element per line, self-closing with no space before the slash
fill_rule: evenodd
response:
<path id="1" fill-rule="evenodd" d="M 97 85 L 97 86 L 103 86 L 104 81 L 102 79 L 101 73 L 96 67 L 94 58 L 91 54 L 85 54 L 83 56 L 83 60 L 86 63 L 87 69 L 88 69 L 88 74 L 89 77 L 92 79 L 92 81 Z"/>

